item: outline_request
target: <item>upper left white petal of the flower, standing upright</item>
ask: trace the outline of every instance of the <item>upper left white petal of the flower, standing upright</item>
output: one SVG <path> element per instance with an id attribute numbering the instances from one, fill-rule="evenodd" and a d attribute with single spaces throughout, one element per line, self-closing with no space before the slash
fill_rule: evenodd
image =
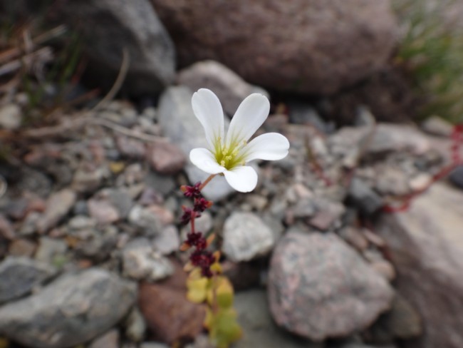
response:
<path id="1" fill-rule="evenodd" d="M 207 88 L 201 88 L 193 94 L 192 107 L 194 116 L 202 124 L 206 140 L 211 150 L 217 141 L 224 141 L 224 111 L 219 98 Z"/>

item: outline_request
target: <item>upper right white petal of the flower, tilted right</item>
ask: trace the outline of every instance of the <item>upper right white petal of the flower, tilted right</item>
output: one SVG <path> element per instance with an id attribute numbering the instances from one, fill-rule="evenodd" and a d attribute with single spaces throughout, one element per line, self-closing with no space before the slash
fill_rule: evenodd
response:
<path id="1" fill-rule="evenodd" d="M 227 133 L 227 148 L 231 143 L 249 140 L 269 116 L 269 110 L 270 103 L 266 96 L 259 93 L 247 96 L 231 118 Z"/>

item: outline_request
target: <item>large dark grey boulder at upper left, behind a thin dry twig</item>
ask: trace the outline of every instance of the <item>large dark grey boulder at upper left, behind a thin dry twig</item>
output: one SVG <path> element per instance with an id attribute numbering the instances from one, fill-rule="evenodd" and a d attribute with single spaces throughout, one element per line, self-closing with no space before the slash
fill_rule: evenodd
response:
<path id="1" fill-rule="evenodd" d="M 103 88 L 113 85 L 123 50 L 129 59 L 123 90 L 130 95 L 159 93 L 174 80 L 175 48 L 149 1 L 71 1 L 63 12 L 85 40 L 88 76 Z"/>

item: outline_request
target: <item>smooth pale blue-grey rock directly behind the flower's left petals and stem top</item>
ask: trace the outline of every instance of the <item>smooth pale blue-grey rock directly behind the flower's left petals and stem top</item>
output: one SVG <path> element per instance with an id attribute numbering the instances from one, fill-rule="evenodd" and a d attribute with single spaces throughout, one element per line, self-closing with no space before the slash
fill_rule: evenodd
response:
<path id="1" fill-rule="evenodd" d="M 160 97 L 157 111 L 162 131 L 172 143 L 178 145 L 187 158 L 193 148 L 207 146 L 204 129 L 193 113 L 192 96 L 192 91 L 184 86 L 167 88 Z M 225 127 L 228 124 L 225 120 Z M 190 162 L 185 166 L 185 170 L 190 183 L 203 181 L 209 176 Z M 204 197 L 214 202 L 226 198 L 233 192 L 222 177 L 214 178 L 202 191 Z"/>

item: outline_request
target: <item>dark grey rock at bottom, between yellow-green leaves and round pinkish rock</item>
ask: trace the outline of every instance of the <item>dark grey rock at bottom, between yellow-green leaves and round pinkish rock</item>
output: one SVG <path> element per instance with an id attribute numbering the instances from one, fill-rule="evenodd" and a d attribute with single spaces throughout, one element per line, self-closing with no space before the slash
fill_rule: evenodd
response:
<path id="1" fill-rule="evenodd" d="M 234 344 L 236 348 L 323 348 L 323 344 L 292 336 L 277 327 L 271 319 L 264 290 L 237 292 L 234 308 L 244 331 L 243 337 Z"/>

